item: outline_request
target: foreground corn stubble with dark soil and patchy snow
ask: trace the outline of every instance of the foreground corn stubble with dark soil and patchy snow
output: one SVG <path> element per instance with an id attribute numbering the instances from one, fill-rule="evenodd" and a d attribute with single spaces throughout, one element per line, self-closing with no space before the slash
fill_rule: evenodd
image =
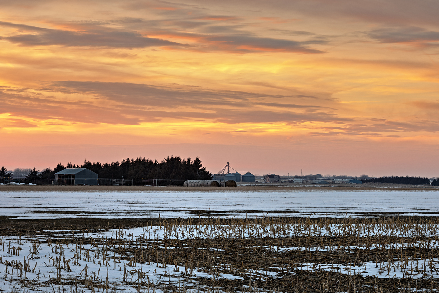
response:
<path id="1" fill-rule="evenodd" d="M 439 289 L 437 217 L 1 220 L 2 292 Z"/>

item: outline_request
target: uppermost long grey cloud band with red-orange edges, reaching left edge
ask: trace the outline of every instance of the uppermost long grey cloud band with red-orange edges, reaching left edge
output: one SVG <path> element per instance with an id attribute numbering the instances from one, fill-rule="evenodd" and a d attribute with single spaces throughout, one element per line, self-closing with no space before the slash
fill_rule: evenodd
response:
<path id="1" fill-rule="evenodd" d="M 129 22 L 132 23 L 132 22 Z M 164 40 L 160 37 L 144 37 L 136 31 L 124 31 L 103 27 L 103 22 L 76 23 L 80 30 L 47 29 L 37 26 L 0 22 L 0 26 L 17 29 L 11 36 L 0 36 L 0 40 L 23 46 L 66 46 L 66 47 L 109 47 L 109 48 L 147 48 L 147 47 L 181 47 L 196 50 L 236 51 L 241 53 L 257 51 L 286 51 L 302 54 L 324 53 L 324 51 L 308 48 L 311 44 L 325 44 L 326 40 L 294 41 L 270 37 L 258 37 L 252 33 L 224 32 L 230 28 L 210 26 L 206 33 L 178 33 L 175 31 L 155 31 L 148 33 L 190 40 L 195 44 L 182 44 Z M 182 26 L 180 23 L 179 26 Z M 187 26 L 187 25 L 186 25 Z M 198 24 L 196 25 L 198 26 Z M 148 31 L 148 28 L 144 28 Z"/>

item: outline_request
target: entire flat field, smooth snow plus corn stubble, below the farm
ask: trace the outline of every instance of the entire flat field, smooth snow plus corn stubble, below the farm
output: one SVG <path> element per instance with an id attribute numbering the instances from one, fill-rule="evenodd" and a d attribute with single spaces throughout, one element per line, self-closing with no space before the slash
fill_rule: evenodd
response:
<path id="1" fill-rule="evenodd" d="M 434 188 L 31 188 L 0 188 L 0 292 L 439 289 Z"/>

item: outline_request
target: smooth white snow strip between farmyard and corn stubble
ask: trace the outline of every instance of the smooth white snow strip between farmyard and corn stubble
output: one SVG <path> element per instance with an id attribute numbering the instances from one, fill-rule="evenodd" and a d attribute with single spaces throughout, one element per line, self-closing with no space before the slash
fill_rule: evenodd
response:
<path id="1" fill-rule="evenodd" d="M 439 191 L 1 192 L 0 215 L 47 217 L 254 217 L 439 215 Z"/>

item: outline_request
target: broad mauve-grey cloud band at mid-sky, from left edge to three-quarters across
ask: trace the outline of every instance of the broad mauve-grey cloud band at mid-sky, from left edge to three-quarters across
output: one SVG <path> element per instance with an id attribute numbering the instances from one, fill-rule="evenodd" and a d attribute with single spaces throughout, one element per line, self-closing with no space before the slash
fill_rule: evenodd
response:
<path id="1" fill-rule="evenodd" d="M 54 98 L 60 93 L 80 94 L 93 99 L 65 101 Z M 277 102 L 264 102 L 267 99 Z M 4 88 L 0 92 L 0 113 L 71 123 L 126 125 L 167 118 L 201 119 L 227 124 L 352 121 L 350 118 L 339 117 L 333 113 L 334 109 L 293 104 L 291 99 L 300 101 L 303 98 L 294 95 L 218 91 L 184 85 L 157 87 L 148 84 L 59 81 L 31 91 Z"/>

